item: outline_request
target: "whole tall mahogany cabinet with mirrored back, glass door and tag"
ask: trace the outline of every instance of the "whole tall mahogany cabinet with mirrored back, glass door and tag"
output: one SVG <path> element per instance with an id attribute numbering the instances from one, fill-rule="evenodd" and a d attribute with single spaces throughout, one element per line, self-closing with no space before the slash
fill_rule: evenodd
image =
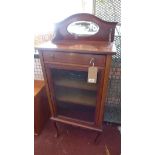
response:
<path id="1" fill-rule="evenodd" d="M 61 122 L 102 132 L 116 24 L 75 14 L 55 25 L 51 41 L 35 47 L 56 129 Z"/>

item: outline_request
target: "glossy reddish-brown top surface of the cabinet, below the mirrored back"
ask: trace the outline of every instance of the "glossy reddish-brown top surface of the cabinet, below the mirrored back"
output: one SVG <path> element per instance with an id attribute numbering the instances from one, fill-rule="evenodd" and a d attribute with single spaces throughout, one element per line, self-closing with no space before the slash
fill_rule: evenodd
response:
<path id="1" fill-rule="evenodd" d="M 74 53 L 90 54 L 115 54 L 116 47 L 113 42 L 105 41 L 60 41 L 53 43 L 45 42 L 35 46 L 36 50 L 41 51 L 62 51 Z"/>

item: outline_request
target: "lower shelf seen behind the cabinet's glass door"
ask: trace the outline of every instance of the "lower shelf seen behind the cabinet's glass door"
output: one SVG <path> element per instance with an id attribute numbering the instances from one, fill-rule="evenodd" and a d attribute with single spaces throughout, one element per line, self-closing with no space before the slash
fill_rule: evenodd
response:
<path id="1" fill-rule="evenodd" d="M 56 89 L 56 100 L 86 106 L 96 105 L 96 92 L 80 89 Z"/>

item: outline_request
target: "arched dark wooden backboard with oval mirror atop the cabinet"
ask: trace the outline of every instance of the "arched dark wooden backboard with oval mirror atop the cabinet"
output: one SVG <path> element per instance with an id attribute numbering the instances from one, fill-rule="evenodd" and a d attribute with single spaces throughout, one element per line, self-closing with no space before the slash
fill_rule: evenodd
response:
<path id="1" fill-rule="evenodd" d="M 55 25 L 52 42 L 64 40 L 109 42 L 109 36 L 112 42 L 116 24 L 88 13 L 74 14 Z"/>

